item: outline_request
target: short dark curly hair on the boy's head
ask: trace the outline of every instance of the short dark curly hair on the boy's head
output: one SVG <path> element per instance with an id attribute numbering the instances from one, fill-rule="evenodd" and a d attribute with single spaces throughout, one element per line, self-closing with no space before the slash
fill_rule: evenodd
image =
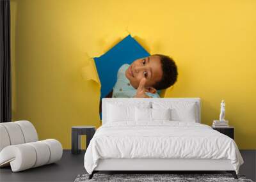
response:
<path id="1" fill-rule="evenodd" d="M 152 56 L 159 56 L 161 61 L 161 66 L 163 70 L 162 79 L 154 84 L 154 88 L 157 90 L 166 89 L 172 86 L 178 77 L 177 66 L 173 59 L 169 56 L 164 56 L 162 54 L 154 54 Z"/>

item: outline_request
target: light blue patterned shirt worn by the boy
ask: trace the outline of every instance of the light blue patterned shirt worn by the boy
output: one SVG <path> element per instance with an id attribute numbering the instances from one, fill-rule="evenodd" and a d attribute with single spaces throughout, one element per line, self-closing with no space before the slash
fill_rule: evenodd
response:
<path id="1" fill-rule="evenodd" d="M 112 98 L 133 98 L 136 95 L 137 90 L 132 87 L 130 80 L 125 76 L 125 71 L 129 68 L 129 64 L 122 65 L 117 72 L 116 84 L 113 87 Z M 160 98 L 157 93 L 146 94 L 152 98 Z"/>

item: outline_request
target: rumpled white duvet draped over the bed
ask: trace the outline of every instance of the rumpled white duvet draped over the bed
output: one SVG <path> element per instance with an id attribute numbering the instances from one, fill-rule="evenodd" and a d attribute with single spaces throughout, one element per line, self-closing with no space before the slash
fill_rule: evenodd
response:
<path id="1" fill-rule="evenodd" d="M 210 126 L 192 122 L 115 122 L 97 130 L 84 155 L 89 174 L 99 159 L 193 158 L 229 159 L 239 171 L 243 158 L 234 140 Z"/>

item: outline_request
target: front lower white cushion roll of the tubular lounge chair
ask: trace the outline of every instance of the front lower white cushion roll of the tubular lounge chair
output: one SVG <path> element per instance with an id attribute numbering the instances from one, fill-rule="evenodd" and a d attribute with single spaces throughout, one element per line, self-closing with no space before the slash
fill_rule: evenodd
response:
<path id="1" fill-rule="evenodd" d="M 61 156 L 62 146 L 55 139 L 12 145 L 0 152 L 0 167 L 10 163 L 12 171 L 18 172 L 56 162 Z"/>

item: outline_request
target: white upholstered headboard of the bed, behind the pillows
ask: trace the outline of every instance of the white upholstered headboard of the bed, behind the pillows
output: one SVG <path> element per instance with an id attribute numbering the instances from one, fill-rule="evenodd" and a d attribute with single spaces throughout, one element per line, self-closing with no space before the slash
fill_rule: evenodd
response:
<path id="1" fill-rule="evenodd" d="M 201 105 L 200 105 L 200 98 L 103 98 L 102 99 L 102 125 L 106 123 L 107 112 L 106 112 L 106 105 L 111 102 L 121 102 L 127 103 L 130 105 L 136 105 L 136 103 L 140 102 L 195 102 L 196 104 L 196 115 L 197 121 L 196 123 L 201 123 Z"/>

